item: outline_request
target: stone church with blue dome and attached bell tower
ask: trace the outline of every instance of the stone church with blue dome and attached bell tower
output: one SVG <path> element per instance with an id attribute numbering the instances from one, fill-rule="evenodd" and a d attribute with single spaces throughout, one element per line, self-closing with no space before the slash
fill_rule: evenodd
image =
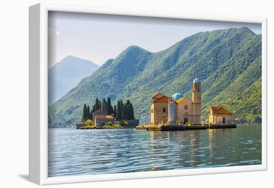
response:
<path id="1" fill-rule="evenodd" d="M 161 93 L 151 99 L 150 112 L 152 125 L 185 124 L 199 125 L 201 121 L 201 82 L 196 75 L 192 83 L 192 99 L 175 93 L 167 97 Z"/>

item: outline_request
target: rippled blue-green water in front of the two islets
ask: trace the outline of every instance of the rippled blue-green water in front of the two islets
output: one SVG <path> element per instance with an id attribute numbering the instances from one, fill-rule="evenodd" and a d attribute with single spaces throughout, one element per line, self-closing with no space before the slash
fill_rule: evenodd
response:
<path id="1" fill-rule="evenodd" d="M 257 165 L 261 125 L 152 132 L 49 129 L 48 176 Z"/>

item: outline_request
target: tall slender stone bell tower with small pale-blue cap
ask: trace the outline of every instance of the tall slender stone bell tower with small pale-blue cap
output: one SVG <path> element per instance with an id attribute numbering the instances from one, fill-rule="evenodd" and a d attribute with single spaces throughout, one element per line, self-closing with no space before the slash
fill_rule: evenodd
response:
<path id="1" fill-rule="evenodd" d="M 192 83 L 192 123 L 199 124 L 201 121 L 201 82 L 196 74 Z"/>

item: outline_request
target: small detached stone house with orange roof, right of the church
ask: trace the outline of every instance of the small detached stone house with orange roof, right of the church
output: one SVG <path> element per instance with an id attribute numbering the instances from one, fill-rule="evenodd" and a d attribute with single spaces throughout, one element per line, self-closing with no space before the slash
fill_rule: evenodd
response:
<path id="1" fill-rule="evenodd" d="M 209 123 L 211 124 L 231 124 L 233 114 L 223 107 L 210 107 Z"/>

